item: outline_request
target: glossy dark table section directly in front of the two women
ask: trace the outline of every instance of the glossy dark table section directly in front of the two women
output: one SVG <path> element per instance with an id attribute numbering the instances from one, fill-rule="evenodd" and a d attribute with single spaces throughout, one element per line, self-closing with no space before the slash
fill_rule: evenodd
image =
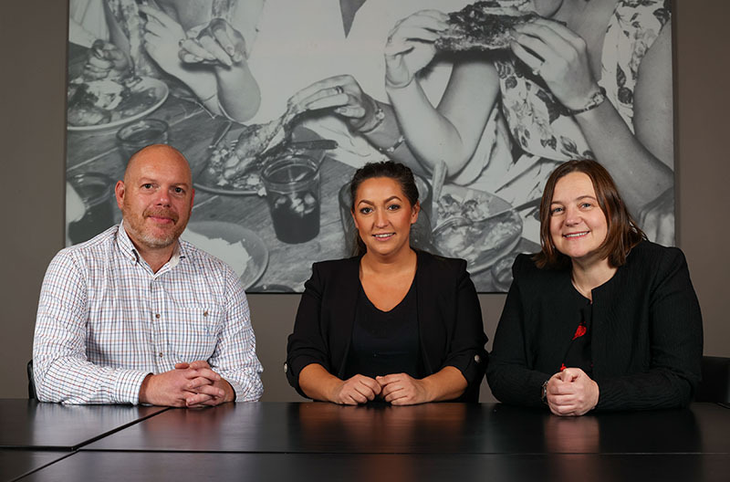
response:
<path id="1" fill-rule="evenodd" d="M 411 407 L 237 403 L 214 409 L 169 410 L 83 448 L 337 454 L 730 454 L 728 429 L 730 411 L 710 403 L 695 403 L 692 410 L 577 418 L 499 403 Z"/>

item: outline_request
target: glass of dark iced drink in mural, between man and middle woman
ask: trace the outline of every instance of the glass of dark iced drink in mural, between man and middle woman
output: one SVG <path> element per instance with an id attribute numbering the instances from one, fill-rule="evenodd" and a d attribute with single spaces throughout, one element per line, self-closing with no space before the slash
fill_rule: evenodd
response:
<path id="1" fill-rule="evenodd" d="M 319 234 L 319 165 L 306 155 L 289 155 L 266 165 L 261 175 L 276 237 L 304 243 Z"/>

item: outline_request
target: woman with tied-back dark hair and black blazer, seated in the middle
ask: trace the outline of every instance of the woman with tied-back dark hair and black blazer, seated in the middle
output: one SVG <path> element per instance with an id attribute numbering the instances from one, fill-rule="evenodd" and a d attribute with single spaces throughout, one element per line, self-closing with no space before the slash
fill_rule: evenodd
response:
<path id="1" fill-rule="evenodd" d="M 486 336 L 463 259 L 410 245 L 410 169 L 368 163 L 350 183 L 360 255 L 312 266 L 287 345 L 297 392 L 332 403 L 473 401 Z"/>

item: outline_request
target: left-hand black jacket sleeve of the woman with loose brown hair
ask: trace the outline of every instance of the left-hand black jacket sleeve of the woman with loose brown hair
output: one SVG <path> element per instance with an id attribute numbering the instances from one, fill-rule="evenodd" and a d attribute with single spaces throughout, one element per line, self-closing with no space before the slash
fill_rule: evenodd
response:
<path id="1" fill-rule="evenodd" d="M 544 406 L 540 389 L 552 373 L 530 368 L 528 354 L 532 348 L 525 322 L 528 307 L 524 305 L 522 292 L 525 289 L 523 278 L 529 276 L 527 263 L 532 261 L 520 255 L 512 265 L 512 286 L 496 328 L 486 380 L 500 402 L 537 407 Z"/>

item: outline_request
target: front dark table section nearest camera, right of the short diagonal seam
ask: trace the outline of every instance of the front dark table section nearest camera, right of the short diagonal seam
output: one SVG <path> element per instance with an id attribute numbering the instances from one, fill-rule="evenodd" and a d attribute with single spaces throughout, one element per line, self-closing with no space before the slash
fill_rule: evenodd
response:
<path id="1" fill-rule="evenodd" d="M 727 455 L 78 452 L 23 481 L 726 482 Z"/>

